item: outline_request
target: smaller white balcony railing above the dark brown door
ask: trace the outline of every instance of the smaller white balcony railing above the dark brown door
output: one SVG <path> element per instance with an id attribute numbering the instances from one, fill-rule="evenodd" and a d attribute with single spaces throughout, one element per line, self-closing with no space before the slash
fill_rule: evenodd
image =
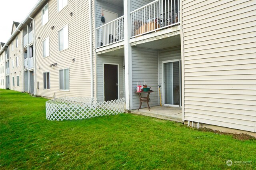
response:
<path id="1" fill-rule="evenodd" d="M 117 18 L 97 29 L 98 47 L 124 40 L 124 16 Z"/>

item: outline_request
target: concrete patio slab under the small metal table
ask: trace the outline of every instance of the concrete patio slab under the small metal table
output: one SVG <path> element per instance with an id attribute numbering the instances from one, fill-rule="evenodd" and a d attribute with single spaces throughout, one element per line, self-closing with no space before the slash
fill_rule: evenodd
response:
<path id="1" fill-rule="evenodd" d="M 150 111 L 146 107 L 141 108 L 139 111 L 138 109 L 131 110 L 131 113 L 183 123 L 180 107 L 154 106 L 151 107 Z"/>

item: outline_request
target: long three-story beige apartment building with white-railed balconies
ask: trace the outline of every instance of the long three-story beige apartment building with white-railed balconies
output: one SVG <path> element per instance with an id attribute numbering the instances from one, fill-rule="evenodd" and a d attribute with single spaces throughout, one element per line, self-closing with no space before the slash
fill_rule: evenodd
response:
<path id="1" fill-rule="evenodd" d="M 22 23 L 24 82 L 44 97 L 124 97 L 129 111 L 146 82 L 150 107 L 184 123 L 256 132 L 255 12 L 253 0 L 39 0 Z"/>

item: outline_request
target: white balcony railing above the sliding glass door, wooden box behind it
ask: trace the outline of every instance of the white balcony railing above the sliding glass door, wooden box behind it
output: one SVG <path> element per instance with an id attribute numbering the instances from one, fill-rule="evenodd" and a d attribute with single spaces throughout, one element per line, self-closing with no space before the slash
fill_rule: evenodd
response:
<path id="1" fill-rule="evenodd" d="M 180 24 L 180 0 L 155 0 L 130 14 L 131 37 L 176 26 Z"/>

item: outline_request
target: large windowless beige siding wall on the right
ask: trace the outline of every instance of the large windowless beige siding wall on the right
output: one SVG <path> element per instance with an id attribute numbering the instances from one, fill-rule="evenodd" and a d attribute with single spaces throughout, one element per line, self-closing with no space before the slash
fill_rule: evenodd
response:
<path id="1" fill-rule="evenodd" d="M 184 120 L 256 132 L 256 4 L 182 1 Z"/>

